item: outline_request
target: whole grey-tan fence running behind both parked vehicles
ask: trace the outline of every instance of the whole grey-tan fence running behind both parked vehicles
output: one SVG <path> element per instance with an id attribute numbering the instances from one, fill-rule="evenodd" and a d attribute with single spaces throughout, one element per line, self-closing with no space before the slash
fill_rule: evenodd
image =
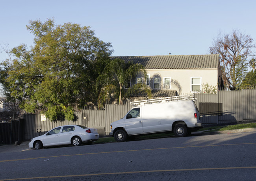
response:
<path id="1" fill-rule="evenodd" d="M 217 94 L 195 94 L 200 120 L 203 125 L 236 123 L 256 120 L 256 89 L 241 91 L 217 91 Z M 49 121 L 39 114 L 24 115 L 24 140 L 43 135 L 48 130 L 66 124 L 80 124 L 89 128 L 110 132 L 110 124 L 124 117 L 132 105 L 106 105 L 105 110 L 80 110 L 75 112 L 77 121 Z"/>

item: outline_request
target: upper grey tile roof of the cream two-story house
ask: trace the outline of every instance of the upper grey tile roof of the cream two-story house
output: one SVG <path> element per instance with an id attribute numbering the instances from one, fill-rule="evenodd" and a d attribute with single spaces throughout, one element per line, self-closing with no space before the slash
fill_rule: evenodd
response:
<path id="1" fill-rule="evenodd" d="M 158 56 L 124 56 L 119 58 L 126 62 L 142 64 L 145 69 L 200 69 L 218 68 L 219 55 L 158 55 Z"/>

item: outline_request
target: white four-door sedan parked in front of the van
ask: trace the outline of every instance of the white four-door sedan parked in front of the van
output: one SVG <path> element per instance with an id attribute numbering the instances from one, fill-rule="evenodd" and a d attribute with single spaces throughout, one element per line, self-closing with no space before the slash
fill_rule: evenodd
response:
<path id="1" fill-rule="evenodd" d="M 33 138 L 28 144 L 29 148 L 39 150 L 46 146 L 72 144 L 79 146 L 82 143 L 92 143 L 99 139 L 96 129 L 89 129 L 80 125 L 58 126 L 44 135 Z"/>

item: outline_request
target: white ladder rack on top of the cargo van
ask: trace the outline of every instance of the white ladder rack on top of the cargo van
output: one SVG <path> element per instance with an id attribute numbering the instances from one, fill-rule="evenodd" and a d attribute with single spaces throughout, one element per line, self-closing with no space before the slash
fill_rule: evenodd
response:
<path id="1" fill-rule="evenodd" d="M 144 106 L 145 104 L 164 103 L 164 102 L 171 102 L 171 101 L 187 101 L 187 100 L 196 101 L 197 98 L 195 98 L 194 95 L 178 95 L 173 97 L 163 97 L 163 98 L 148 99 L 143 101 L 133 101 L 133 102 L 130 102 L 130 104 L 136 105 L 136 106 Z"/>

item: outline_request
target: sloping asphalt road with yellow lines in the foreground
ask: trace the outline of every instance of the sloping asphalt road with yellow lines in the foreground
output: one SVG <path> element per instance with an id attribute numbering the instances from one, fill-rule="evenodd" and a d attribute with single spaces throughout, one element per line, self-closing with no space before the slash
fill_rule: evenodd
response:
<path id="1" fill-rule="evenodd" d="M 256 180 L 256 132 L 0 153 L 2 180 Z"/>

